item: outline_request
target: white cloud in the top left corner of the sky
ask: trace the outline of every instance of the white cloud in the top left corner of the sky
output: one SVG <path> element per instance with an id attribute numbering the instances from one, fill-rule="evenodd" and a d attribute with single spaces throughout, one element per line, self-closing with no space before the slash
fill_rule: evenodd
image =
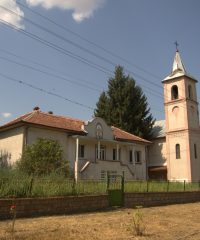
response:
<path id="1" fill-rule="evenodd" d="M 1 0 L 0 5 L 16 12 L 17 15 L 8 12 L 6 9 L 0 7 L 0 20 L 8 22 L 17 28 L 24 28 L 22 24 L 22 17 L 24 16 L 23 11 L 19 8 L 15 0 Z M 18 16 L 21 15 L 22 17 Z"/>

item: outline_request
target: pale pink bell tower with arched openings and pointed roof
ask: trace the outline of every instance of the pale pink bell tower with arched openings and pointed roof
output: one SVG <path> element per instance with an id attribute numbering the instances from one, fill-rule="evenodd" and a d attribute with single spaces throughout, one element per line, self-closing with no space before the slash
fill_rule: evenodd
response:
<path id="1" fill-rule="evenodd" d="M 169 180 L 200 180 L 200 128 L 197 80 L 176 50 L 172 72 L 163 81 Z"/>

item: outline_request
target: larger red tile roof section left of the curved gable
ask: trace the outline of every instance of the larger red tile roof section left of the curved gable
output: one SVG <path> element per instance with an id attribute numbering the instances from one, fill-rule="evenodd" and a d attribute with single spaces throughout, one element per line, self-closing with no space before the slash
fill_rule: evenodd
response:
<path id="1" fill-rule="evenodd" d="M 44 113 L 39 110 L 27 113 L 3 126 L 0 126 L 0 130 L 19 123 L 30 123 L 85 134 L 85 131 L 82 128 L 84 121 Z"/>

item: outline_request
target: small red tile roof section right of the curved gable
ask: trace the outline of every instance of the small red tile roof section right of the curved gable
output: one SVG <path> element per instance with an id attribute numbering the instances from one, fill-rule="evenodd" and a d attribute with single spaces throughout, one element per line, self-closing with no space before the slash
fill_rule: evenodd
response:
<path id="1" fill-rule="evenodd" d="M 113 134 L 114 134 L 116 140 L 151 143 L 150 141 L 147 141 L 143 138 L 140 138 L 131 133 L 125 132 L 125 131 L 121 130 L 120 128 L 117 128 L 114 126 L 112 126 L 111 128 L 112 128 L 112 131 L 113 131 Z"/>

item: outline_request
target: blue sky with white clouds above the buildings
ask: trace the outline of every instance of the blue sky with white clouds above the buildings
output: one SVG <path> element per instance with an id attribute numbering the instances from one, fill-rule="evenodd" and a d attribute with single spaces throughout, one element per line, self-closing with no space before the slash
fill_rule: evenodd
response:
<path id="1" fill-rule="evenodd" d="M 199 0 L 0 0 L 0 125 L 35 106 L 91 119 L 116 65 L 164 119 L 175 41 L 200 80 L 199 11 Z"/>

